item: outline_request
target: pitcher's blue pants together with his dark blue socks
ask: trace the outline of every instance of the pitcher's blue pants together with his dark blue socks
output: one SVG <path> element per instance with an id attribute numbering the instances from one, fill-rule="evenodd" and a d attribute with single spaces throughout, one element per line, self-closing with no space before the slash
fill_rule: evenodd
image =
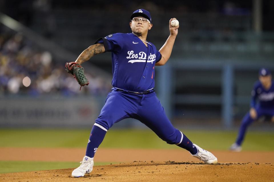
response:
<path id="1" fill-rule="evenodd" d="M 92 128 L 86 156 L 93 157 L 108 129 L 126 118 L 141 121 L 168 144 L 176 144 L 191 154 L 198 152 L 192 142 L 173 127 L 153 90 L 142 95 L 113 90 L 108 94 L 106 103 Z"/>

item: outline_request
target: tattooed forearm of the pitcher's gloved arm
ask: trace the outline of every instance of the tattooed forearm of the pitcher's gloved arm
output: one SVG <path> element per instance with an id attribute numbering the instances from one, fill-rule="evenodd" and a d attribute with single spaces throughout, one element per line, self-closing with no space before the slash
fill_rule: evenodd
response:
<path id="1" fill-rule="evenodd" d="M 76 59 L 76 63 L 82 64 L 86 61 L 88 61 L 91 57 L 93 57 L 96 54 L 104 53 L 105 47 L 104 44 L 94 44 L 92 46 L 89 46 L 87 49 L 85 49 L 79 57 Z"/>

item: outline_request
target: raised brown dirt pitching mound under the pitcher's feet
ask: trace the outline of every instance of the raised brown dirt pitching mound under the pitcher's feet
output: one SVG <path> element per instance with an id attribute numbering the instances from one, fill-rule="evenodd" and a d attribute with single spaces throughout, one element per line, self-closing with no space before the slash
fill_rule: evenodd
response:
<path id="1" fill-rule="evenodd" d="M 0 174 L 0 181 L 271 181 L 274 165 L 227 163 L 207 165 L 194 162 L 132 162 L 94 166 L 91 174 L 71 177 L 73 169 Z"/>

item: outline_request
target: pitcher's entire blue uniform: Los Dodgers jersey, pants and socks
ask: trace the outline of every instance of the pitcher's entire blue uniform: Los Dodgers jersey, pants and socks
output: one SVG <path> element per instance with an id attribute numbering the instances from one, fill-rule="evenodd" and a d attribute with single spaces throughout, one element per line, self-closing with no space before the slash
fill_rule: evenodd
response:
<path id="1" fill-rule="evenodd" d="M 196 154 L 197 149 L 192 142 L 174 128 L 166 117 L 154 92 L 154 67 L 162 58 L 156 47 L 150 42 L 146 47 L 133 33 L 110 34 L 97 40 L 95 44 L 97 43 L 104 44 L 105 50 L 112 52 L 113 88 L 94 125 L 106 132 L 122 119 L 138 119 L 162 140 Z M 92 142 L 88 143 L 86 152 L 89 157 L 94 156 L 105 134 L 102 130 L 95 131 L 97 127 L 92 128 Z"/>

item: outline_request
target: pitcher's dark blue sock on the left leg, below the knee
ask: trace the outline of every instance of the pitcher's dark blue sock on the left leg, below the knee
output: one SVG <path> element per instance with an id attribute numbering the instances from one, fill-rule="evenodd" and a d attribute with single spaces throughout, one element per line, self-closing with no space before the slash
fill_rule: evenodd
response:
<path id="1" fill-rule="evenodd" d="M 98 126 L 98 124 L 92 127 L 90 137 L 88 140 L 88 146 L 86 147 L 86 156 L 91 158 L 94 157 L 99 145 L 102 143 L 106 135 L 106 131 L 105 131 L 106 129 L 105 128 L 102 129 L 102 128 L 100 125 Z"/>

